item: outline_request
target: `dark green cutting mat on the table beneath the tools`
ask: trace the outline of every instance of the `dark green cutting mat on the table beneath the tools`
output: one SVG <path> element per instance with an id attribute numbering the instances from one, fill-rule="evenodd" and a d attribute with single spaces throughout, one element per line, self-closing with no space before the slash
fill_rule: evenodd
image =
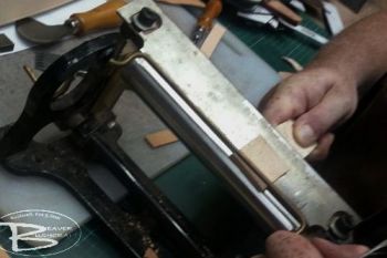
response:
<path id="1" fill-rule="evenodd" d="M 271 31 L 247 27 L 244 22 L 227 12 L 220 20 L 276 71 L 292 71 L 292 68 L 281 59 L 282 56 L 289 56 L 301 64 L 306 64 L 318 50 L 317 45 L 289 30 Z M 326 35 L 324 30 L 308 17 L 304 16 L 303 24 Z M 249 225 L 252 225 L 250 218 L 223 189 L 218 179 L 194 156 L 184 159 L 157 178 L 156 184 L 208 239 L 230 246 L 230 248 L 233 245 L 237 245 L 236 248 L 238 245 L 243 245 L 240 236 L 248 231 Z M 7 241 L 4 236 L 9 234 L 0 234 L 0 241 Z M 259 236 L 254 237 L 254 239 L 259 238 Z M 44 257 L 44 251 L 35 254 L 38 257 Z M 24 256 L 11 255 L 11 257 Z M 82 239 L 74 248 L 54 257 L 118 258 L 123 256 L 106 241 L 98 224 L 91 221 L 82 227 Z"/>

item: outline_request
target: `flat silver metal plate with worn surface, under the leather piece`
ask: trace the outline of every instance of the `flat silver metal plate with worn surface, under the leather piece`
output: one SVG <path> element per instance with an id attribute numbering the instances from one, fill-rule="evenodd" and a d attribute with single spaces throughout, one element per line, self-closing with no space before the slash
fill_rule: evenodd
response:
<path id="1" fill-rule="evenodd" d="M 144 7 L 163 17 L 163 25 L 142 34 L 144 53 L 150 56 L 187 103 L 227 140 L 232 149 L 241 149 L 261 135 L 287 164 L 290 171 L 274 185 L 306 217 L 310 225 L 327 225 L 337 210 L 354 215 L 352 208 L 305 163 L 233 85 L 200 53 L 176 25 L 149 0 L 133 1 L 119 10 L 130 17 Z M 247 64 L 248 65 L 248 64 Z"/>

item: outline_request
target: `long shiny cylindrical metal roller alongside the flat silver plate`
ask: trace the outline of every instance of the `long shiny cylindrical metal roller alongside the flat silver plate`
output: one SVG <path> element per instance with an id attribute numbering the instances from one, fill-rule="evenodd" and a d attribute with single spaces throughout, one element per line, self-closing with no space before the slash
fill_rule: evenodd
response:
<path id="1" fill-rule="evenodd" d="M 181 140 L 202 159 L 209 167 L 233 186 L 240 196 L 249 204 L 250 209 L 263 219 L 265 228 L 296 230 L 293 219 L 286 218 L 271 200 L 259 190 L 236 164 L 230 159 L 232 151 L 222 143 L 216 134 L 207 134 L 211 131 L 205 122 L 189 106 L 181 107 L 178 95 L 171 96 L 166 90 L 167 83 L 161 82 L 160 75 L 151 65 L 144 65 L 146 61 L 135 60 L 124 69 L 124 80 L 149 104 L 151 109 L 179 135 Z M 151 71 L 153 70 L 153 71 Z M 157 72 L 156 72 L 157 73 Z M 192 115 L 196 114 L 195 115 Z M 196 118 L 192 118 L 192 117 Z M 202 127 L 203 125 L 207 126 Z M 212 132 L 212 131 L 211 131 Z M 222 143 L 219 145 L 218 143 Z"/>

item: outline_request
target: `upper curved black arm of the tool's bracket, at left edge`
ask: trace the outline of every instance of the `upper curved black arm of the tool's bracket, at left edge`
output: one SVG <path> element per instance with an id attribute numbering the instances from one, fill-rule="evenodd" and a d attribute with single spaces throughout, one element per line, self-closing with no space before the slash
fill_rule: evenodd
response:
<path id="1" fill-rule="evenodd" d="M 52 111 L 51 103 L 55 92 L 77 71 L 87 71 L 91 64 L 104 66 L 114 54 L 117 40 L 118 33 L 112 33 L 87 41 L 59 58 L 39 76 L 18 121 L 0 140 L 0 159 L 25 149 L 39 131 L 54 122 L 57 112 Z"/>

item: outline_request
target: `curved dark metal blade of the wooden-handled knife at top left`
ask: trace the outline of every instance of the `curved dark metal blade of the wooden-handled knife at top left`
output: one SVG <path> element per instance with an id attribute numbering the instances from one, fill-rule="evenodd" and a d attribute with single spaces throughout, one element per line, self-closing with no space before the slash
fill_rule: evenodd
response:
<path id="1" fill-rule="evenodd" d="M 74 29 L 71 25 L 46 25 L 35 19 L 25 18 L 17 21 L 18 34 L 33 43 L 48 44 L 56 42 L 66 35 L 72 35 Z"/>

